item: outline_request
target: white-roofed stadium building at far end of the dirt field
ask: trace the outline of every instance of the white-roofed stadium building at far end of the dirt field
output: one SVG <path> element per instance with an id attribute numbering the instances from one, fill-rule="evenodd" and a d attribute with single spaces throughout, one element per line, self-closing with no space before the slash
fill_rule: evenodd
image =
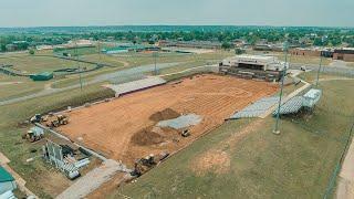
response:
<path id="1" fill-rule="evenodd" d="M 274 56 L 237 55 L 219 63 L 219 73 L 243 78 L 280 81 L 289 63 L 280 62 Z"/>

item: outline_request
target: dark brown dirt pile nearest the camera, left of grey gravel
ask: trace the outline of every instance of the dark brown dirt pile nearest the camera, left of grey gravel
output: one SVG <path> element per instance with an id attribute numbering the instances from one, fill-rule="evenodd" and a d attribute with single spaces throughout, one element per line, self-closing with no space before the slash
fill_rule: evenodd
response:
<path id="1" fill-rule="evenodd" d="M 147 127 L 134 134 L 131 142 L 139 146 L 157 145 L 164 142 L 164 137 Z"/>

